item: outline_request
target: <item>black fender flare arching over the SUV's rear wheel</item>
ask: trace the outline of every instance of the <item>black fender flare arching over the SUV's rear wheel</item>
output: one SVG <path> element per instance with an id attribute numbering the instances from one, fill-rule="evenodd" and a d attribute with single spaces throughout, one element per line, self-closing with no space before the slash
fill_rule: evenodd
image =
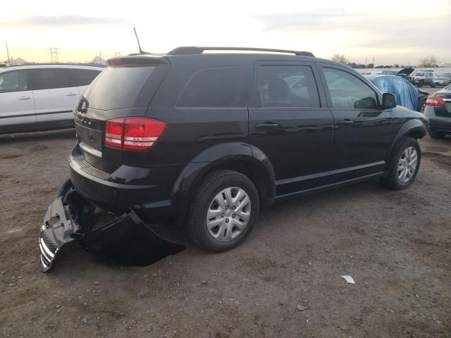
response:
<path id="1" fill-rule="evenodd" d="M 247 143 L 227 142 L 205 149 L 183 168 L 171 192 L 171 202 L 178 218 L 184 217 L 197 184 L 207 173 L 237 161 L 247 163 L 263 177 L 267 192 L 264 205 L 271 205 L 276 196 L 276 177 L 269 159 L 261 150 Z"/>

